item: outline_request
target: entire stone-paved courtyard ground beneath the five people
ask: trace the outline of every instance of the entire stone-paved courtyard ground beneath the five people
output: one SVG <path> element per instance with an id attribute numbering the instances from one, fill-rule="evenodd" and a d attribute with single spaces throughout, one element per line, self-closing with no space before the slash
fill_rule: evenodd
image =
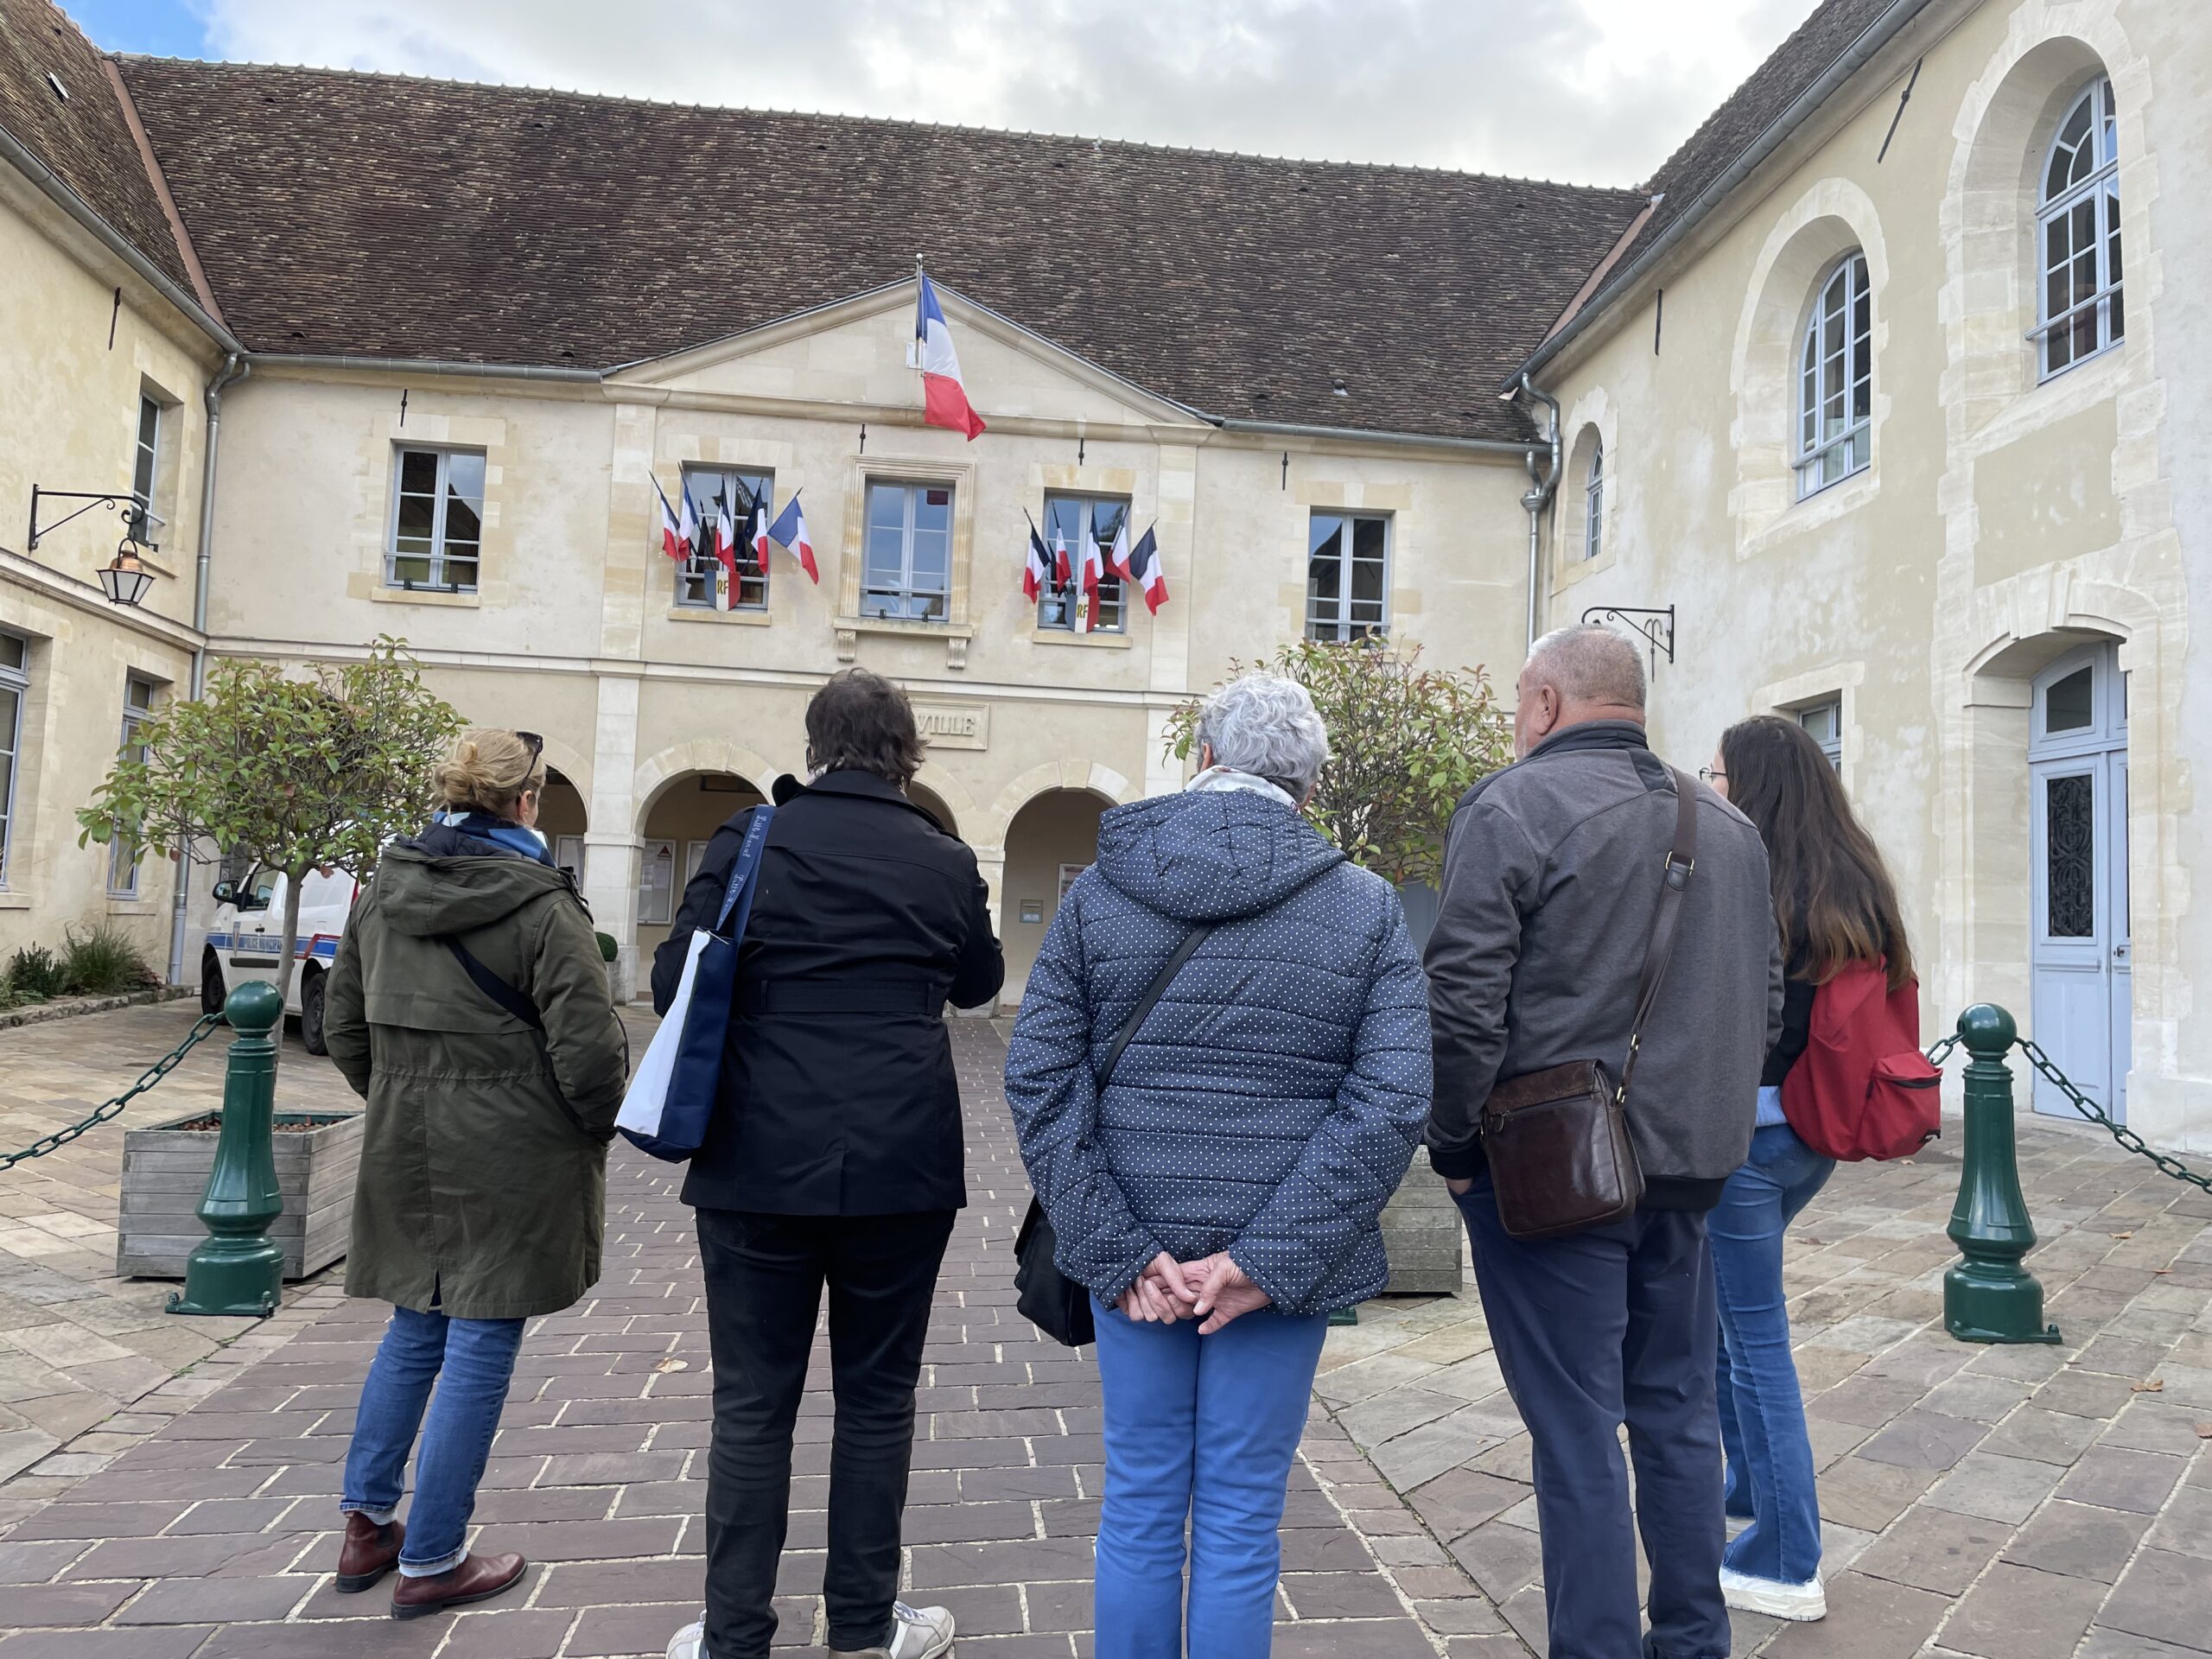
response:
<path id="1" fill-rule="evenodd" d="M 27 1037 L 51 1040 L 35 1066 L 4 1073 L 11 1091 L 33 1077 L 46 1093 L 0 1106 L 0 1121 L 60 1117 L 71 1066 L 88 1079 L 77 1093 L 100 1099 L 113 1084 L 95 1091 L 95 1075 L 126 1082 L 188 1015 L 71 1024 L 0 1037 L 0 1064 L 20 1062 Z M 1002 1044 L 960 1022 L 956 1048 L 973 1203 L 929 1349 L 909 1575 L 960 1613 L 971 1632 L 960 1652 L 1082 1655 L 1097 1380 L 1011 1307 L 1006 1250 L 1026 1190 L 998 1095 Z M 84 1057 L 108 1051 L 128 1060 Z M 179 1084 L 212 1102 L 217 1055 L 164 1091 Z M 288 1048 L 288 1099 L 327 1104 L 334 1084 Z M 184 1095 L 159 1099 L 137 1108 L 146 1121 L 175 1115 Z M 2066 1340 L 1951 1343 L 1940 1325 L 1955 1254 L 1942 1234 L 1958 1188 L 1951 1133 L 1913 1164 L 1840 1170 L 1792 1232 L 1832 1613 L 1818 1626 L 1739 1617 L 1736 1652 L 2212 1652 L 2212 1201 L 2090 1130 L 2024 1121 L 2022 1177 L 2044 1239 L 2028 1265 Z M 35 1188 L 29 1212 L 7 1208 L 31 1190 L 24 1172 L 0 1179 L 0 1228 L 35 1225 L 27 1214 L 113 1225 L 117 1152 L 106 1148 L 104 1172 L 97 1144 L 60 1155 L 75 1172 L 42 1170 L 53 1186 Z M 0 1659 L 657 1652 L 699 1595 L 708 1389 L 699 1270 L 672 1192 L 668 1170 L 617 1155 L 606 1281 L 531 1332 L 480 1506 L 493 1542 L 535 1562 L 520 1593 L 422 1626 L 383 1619 L 376 1595 L 332 1595 L 336 1460 L 380 1307 L 323 1285 L 0 1486 L 0 1630 L 13 1630 Z M 38 1230 L 66 1239 L 66 1228 Z M 102 1283 L 95 1265 L 111 1252 L 113 1234 L 91 1250 L 33 1241 L 29 1261 L 91 1287 L 84 1301 L 135 1310 L 146 1332 L 181 1325 L 148 1312 L 164 1287 Z M 20 1301 L 40 1310 L 29 1329 L 66 1323 L 44 1312 L 62 1301 Z M 812 1391 L 783 1577 L 792 1644 L 816 1617 L 827 1413 L 827 1394 Z M 1533 1509 L 1528 1442 L 1473 1285 L 1369 1303 L 1356 1327 L 1329 1332 L 1323 1356 L 1276 1652 L 1542 1652 Z"/>

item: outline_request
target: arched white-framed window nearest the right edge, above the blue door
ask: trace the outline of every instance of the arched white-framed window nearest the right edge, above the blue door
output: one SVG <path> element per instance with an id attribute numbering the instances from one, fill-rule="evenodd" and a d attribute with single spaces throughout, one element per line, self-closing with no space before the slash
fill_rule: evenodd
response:
<path id="1" fill-rule="evenodd" d="M 2119 345 L 2128 319 L 2119 296 L 2119 144 L 2112 82 L 2099 80 L 2066 111 L 2044 161 L 2035 215 L 2042 261 L 2044 376 Z"/>

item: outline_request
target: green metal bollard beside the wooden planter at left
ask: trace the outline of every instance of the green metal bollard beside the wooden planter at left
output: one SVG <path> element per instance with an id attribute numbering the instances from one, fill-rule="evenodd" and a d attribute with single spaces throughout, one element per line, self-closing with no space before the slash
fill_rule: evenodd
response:
<path id="1" fill-rule="evenodd" d="M 270 1239 L 270 1221 L 283 1210 L 270 1130 L 283 998 L 274 984 L 248 980 L 223 1002 L 223 1018 L 237 1037 L 223 1077 L 215 1168 L 199 1199 L 208 1241 L 186 1263 L 184 1292 L 170 1292 L 168 1312 L 268 1318 L 283 1301 L 283 1248 Z"/>

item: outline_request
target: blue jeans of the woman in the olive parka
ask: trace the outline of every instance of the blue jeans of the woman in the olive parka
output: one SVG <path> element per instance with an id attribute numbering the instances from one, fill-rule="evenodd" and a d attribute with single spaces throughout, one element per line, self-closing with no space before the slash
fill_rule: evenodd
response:
<path id="1" fill-rule="evenodd" d="M 520 1318 L 449 1318 L 394 1307 L 361 1385 L 354 1442 L 345 1451 L 343 1513 L 387 1522 L 400 1506 L 407 1453 L 416 1458 L 416 1502 L 407 1511 L 400 1573 L 436 1577 L 469 1555 L 469 1513 L 484 1478 L 491 1436 L 522 1347 Z M 431 1383 L 438 1398 L 431 1400 Z M 422 1422 L 422 1407 L 429 1422 Z"/>

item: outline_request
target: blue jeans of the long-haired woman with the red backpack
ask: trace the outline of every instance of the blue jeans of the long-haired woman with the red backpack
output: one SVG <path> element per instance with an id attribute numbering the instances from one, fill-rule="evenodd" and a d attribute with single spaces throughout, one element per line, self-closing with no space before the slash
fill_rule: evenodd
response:
<path id="1" fill-rule="evenodd" d="M 1723 1557 L 1736 1573 L 1807 1584 L 1820 1573 L 1820 1495 L 1814 1489 L 1805 1398 L 1790 1358 L 1783 1230 L 1836 1170 L 1787 1124 L 1752 1133 L 1752 1155 L 1728 1177 L 1708 1221 L 1719 1279 L 1721 1444 L 1728 1511 L 1750 1515 Z"/>

